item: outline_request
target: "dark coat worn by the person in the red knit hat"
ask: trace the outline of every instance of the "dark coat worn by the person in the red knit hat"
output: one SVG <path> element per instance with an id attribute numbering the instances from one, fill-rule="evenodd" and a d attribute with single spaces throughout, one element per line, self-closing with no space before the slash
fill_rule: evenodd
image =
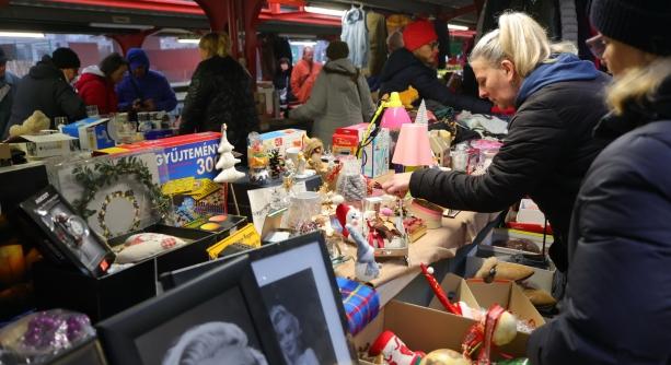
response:
<path id="1" fill-rule="evenodd" d="M 454 94 L 438 81 L 436 70 L 424 64 L 405 48 L 397 49 L 390 55 L 382 69 L 380 82 L 380 95 L 402 92 L 413 86 L 419 93 L 420 98 L 432 99 L 459 110 L 487 114 L 491 110 L 491 103 L 488 101 Z"/>

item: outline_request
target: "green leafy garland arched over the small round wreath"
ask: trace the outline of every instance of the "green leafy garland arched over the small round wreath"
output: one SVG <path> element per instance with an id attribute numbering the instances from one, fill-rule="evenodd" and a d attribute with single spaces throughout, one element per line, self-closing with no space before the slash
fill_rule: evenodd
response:
<path id="1" fill-rule="evenodd" d="M 116 163 L 111 160 L 96 162 L 93 167 L 80 165 L 72 170 L 72 174 L 74 180 L 84 188 L 81 198 L 76 199 L 72 205 L 77 213 L 84 219 L 95 214 L 95 211 L 88 207 L 97 190 L 126 176 L 135 176 L 140 184 L 147 187 L 152 209 L 159 212 L 161 220 L 166 220 L 170 214 L 170 198 L 163 195 L 158 184 L 153 182 L 147 164 L 135 156 L 120 157 Z"/>

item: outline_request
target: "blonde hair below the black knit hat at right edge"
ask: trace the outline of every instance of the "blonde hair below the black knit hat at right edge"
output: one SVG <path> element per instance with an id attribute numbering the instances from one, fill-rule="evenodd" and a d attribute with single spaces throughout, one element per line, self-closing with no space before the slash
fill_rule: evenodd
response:
<path id="1" fill-rule="evenodd" d="M 628 70 L 606 92 L 606 102 L 615 115 L 622 115 L 628 103 L 651 101 L 664 79 L 671 78 L 671 57 L 658 57 L 648 66 Z"/>

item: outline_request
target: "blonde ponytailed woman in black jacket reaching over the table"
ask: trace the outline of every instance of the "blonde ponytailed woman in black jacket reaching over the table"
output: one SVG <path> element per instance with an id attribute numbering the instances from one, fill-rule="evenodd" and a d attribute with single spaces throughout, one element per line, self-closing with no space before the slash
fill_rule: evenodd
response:
<path id="1" fill-rule="evenodd" d="M 483 36 L 470 62 L 479 94 L 501 108 L 514 106 L 504 145 L 485 175 L 424 168 L 398 174 L 389 192 L 425 198 L 443 207 L 479 212 L 508 209 L 530 196 L 554 232 L 549 256 L 568 268 L 566 240 L 580 181 L 608 139 L 592 138 L 606 114 L 603 90 L 610 78 L 582 61 L 570 44 L 551 44 L 524 13 L 505 13 Z M 557 293 L 560 296 L 560 293 Z"/>

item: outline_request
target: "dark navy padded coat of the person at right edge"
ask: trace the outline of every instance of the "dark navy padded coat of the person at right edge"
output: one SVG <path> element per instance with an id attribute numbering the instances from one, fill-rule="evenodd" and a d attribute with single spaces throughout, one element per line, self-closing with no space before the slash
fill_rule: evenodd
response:
<path id="1" fill-rule="evenodd" d="M 564 309 L 532 333 L 532 364 L 671 363 L 671 78 L 656 99 L 599 126 L 624 136 L 580 188 Z"/>

